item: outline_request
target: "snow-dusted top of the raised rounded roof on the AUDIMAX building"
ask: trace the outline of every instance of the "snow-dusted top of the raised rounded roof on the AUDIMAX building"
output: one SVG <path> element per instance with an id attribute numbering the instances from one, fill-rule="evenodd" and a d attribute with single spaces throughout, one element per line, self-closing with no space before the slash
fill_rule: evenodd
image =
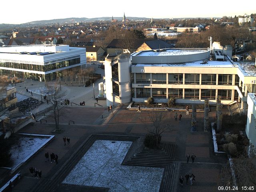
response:
<path id="1" fill-rule="evenodd" d="M 142 51 L 132 56 L 175 56 L 175 55 L 190 55 L 190 54 L 200 54 L 208 52 L 208 49 L 168 49 L 165 51 L 156 52 L 154 50 Z"/>

